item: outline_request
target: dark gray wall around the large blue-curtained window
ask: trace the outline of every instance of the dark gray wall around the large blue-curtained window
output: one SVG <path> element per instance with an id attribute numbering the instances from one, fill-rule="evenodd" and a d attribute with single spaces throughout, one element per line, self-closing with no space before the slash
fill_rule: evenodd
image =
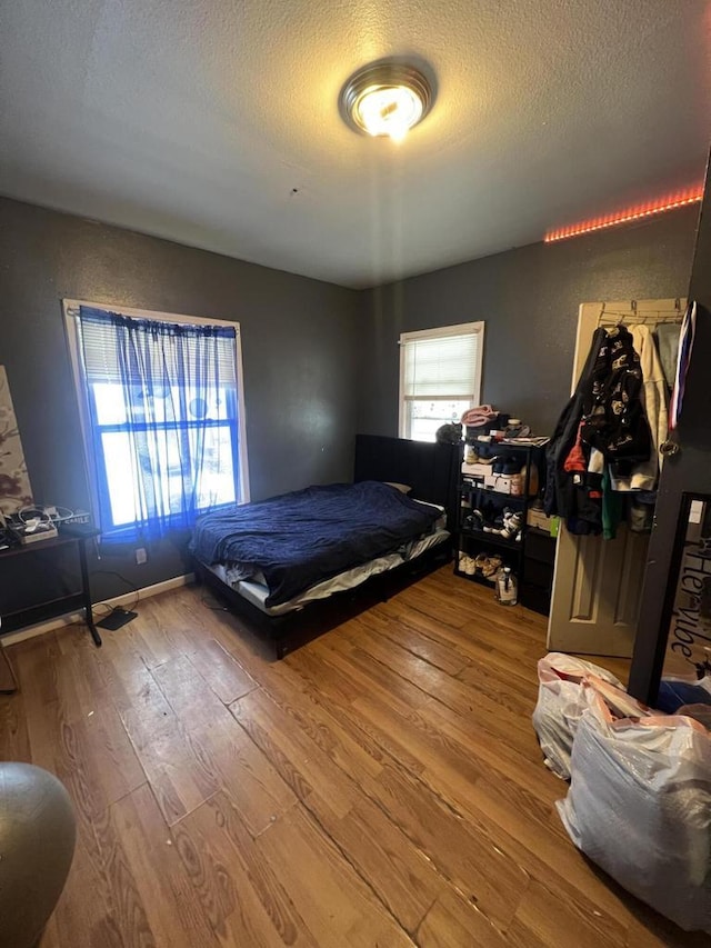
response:
<path id="1" fill-rule="evenodd" d="M 89 503 L 64 297 L 239 321 L 252 499 L 351 478 L 356 291 L 7 199 L 0 267 L 0 365 L 37 500 Z M 147 586 L 182 573 L 183 551 L 162 543 L 137 567 L 127 550 L 101 568 Z"/>

